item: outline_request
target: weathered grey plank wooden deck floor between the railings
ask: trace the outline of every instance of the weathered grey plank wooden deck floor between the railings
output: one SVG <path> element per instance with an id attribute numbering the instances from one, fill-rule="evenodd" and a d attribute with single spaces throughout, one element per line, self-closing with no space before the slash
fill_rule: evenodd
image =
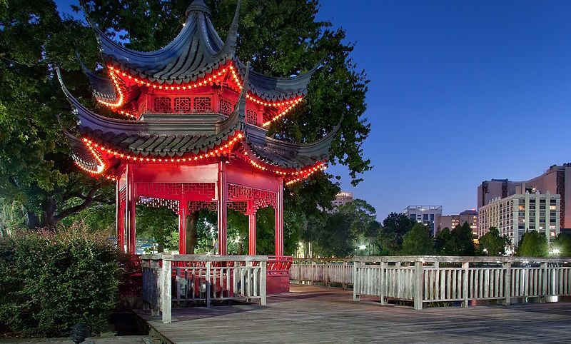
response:
<path id="1" fill-rule="evenodd" d="M 425 308 L 353 302 L 350 290 L 292 285 L 267 306 L 139 313 L 171 343 L 571 343 L 571 303 Z"/>

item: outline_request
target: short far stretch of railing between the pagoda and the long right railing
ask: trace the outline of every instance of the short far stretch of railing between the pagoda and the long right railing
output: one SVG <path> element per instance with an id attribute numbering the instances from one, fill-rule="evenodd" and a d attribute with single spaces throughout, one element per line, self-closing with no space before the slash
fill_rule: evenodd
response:
<path id="1" fill-rule="evenodd" d="M 290 280 L 293 283 L 338 283 L 345 288 L 353 284 L 353 261 L 335 258 L 293 258 Z"/>

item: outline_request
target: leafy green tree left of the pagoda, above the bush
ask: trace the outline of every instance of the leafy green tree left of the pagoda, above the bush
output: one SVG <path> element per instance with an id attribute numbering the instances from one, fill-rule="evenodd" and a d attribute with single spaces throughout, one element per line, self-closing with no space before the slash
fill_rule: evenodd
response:
<path id="1" fill-rule="evenodd" d="M 7 4 L 7 6 L 6 6 Z M 54 228 L 90 206 L 112 203 L 113 188 L 81 173 L 56 115 L 72 123 L 54 66 L 71 71 L 71 88 L 91 98 L 75 50 L 96 47 L 80 21 L 62 19 L 53 1 L 0 5 L 0 194 L 20 203 L 29 227 Z M 88 48 L 90 46 L 90 48 Z M 81 84 L 81 86 L 79 86 Z"/>

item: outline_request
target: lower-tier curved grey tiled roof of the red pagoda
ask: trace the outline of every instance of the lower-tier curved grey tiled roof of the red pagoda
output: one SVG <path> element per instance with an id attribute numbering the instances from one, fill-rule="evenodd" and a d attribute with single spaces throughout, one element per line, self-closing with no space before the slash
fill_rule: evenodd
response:
<path id="1" fill-rule="evenodd" d="M 244 148 L 264 163 L 283 168 L 303 168 L 328 158 L 330 143 L 339 128 L 337 126 L 328 136 L 311 144 L 285 143 L 268 138 L 266 131 L 244 123 L 246 88 L 242 89 L 236 107 L 227 118 L 218 113 L 147 115 L 141 121 L 107 118 L 79 103 L 66 88 L 59 69 L 56 69 L 56 74 L 68 101 L 74 107 L 82 134 L 98 143 L 141 156 L 183 156 L 184 153 L 201 153 L 228 141 L 236 131 L 241 131 L 246 137 Z M 248 73 L 244 82 L 248 82 Z M 72 142 L 74 153 L 84 156 L 85 159 L 89 158 L 89 154 L 84 154 L 85 146 L 76 146 L 76 142 Z"/>

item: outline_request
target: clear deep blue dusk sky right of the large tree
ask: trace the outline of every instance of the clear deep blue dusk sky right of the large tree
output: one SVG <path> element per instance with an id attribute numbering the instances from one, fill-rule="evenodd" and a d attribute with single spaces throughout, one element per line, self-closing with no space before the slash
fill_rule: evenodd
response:
<path id="1" fill-rule="evenodd" d="M 356 188 L 328 171 L 382 221 L 409 205 L 475 208 L 486 179 L 571 161 L 570 14 L 571 1 L 321 1 L 318 19 L 347 31 L 370 79 L 375 166 Z"/>

